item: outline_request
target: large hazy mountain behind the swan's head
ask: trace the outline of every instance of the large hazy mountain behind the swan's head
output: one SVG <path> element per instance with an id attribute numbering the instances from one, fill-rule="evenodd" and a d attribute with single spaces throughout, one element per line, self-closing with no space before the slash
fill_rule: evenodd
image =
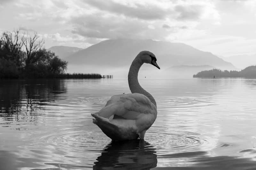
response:
<path id="1" fill-rule="evenodd" d="M 151 39 L 109 39 L 80 50 L 68 56 L 66 60 L 76 69 L 85 69 L 86 66 L 90 66 L 90 69 L 92 66 L 98 69 L 123 68 L 129 67 L 134 57 L 142 50 L 153 52 L 161 68 L 177 65 L 210 65 L 220 69 L 236 69 L 231 63 L 212 53 L 200 51 L 183 43 Z"/>

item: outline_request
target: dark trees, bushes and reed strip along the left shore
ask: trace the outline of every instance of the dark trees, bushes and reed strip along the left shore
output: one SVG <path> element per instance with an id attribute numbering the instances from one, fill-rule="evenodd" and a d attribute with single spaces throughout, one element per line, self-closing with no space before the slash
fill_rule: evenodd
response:
<path id="1" fill-rule="evenodd" d="M 47 51 L 38 33 L 4 32 L 0 36 L 0 79 L 102 78 L 100 74 L 65 73 L 68 62 Z"/>

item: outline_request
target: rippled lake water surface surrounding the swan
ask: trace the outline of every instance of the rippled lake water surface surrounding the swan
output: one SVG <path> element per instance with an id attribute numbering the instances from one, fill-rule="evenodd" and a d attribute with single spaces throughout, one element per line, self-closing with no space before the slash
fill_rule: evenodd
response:
<path id="1" fill-rule="evenodd" d="M 111 142 L 91 113 L 127 80 L 0 80 L 0 169 L 256 169 L 256 80 L 139 80 L 158 115 Z"/>

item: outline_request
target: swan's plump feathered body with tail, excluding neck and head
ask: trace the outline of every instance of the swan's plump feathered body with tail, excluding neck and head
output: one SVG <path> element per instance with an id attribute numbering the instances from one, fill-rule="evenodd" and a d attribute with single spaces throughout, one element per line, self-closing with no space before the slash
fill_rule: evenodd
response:
<path id="1" fill-rule="evenodd" d="M 93 123 L 113 140 L 143 139 L 156 115 L 156 106 L 140 93 L 112 96 L 104 108 L 92 114 Z"/>

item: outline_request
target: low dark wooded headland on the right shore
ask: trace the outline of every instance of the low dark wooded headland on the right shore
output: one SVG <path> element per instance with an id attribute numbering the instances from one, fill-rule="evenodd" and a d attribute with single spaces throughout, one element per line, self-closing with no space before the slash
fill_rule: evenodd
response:
<path id="1" fill-rule="evenodd" d="M 256 78 L 256 66 L 249 66 L 241 71 L 222 71 L 220 69 L 212 69 L 201 71 L 193 75 L 193 78 L 223 78 L 223 77 L 241 77 Z"/>

